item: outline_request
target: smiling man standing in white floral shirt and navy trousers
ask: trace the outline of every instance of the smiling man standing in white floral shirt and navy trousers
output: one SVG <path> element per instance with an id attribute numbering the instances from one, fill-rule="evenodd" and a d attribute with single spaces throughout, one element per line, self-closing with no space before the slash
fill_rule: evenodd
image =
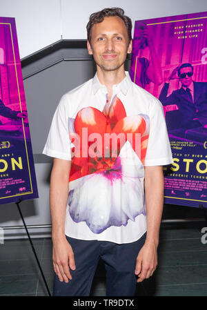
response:
<path id="1" fill-rule="evenodd" d="M 55 157 L 54 296 L 89 296 L 99 258 L 107 296 L 134 296 L 136 283 L 157 266 L 161 165 L 170 164 L 172 155 L 160 102 L 124 71 L 131 29 L 121 8 L 90 16 L 87 46 L 97 74 L 61 98 L 43 151 Z M 113 139 L 107 143 L 108 135 Z M 118 136 L 126 142 L 116 141 Z"/>

